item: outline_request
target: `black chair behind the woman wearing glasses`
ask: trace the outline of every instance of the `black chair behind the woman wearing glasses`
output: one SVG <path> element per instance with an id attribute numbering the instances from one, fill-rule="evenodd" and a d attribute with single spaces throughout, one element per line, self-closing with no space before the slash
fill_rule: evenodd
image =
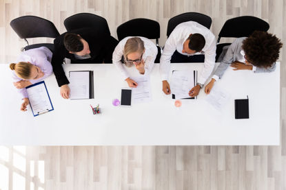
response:
<path id="1" fill-rule="evenodd" d="M 142 36 L 148 39 L 156 39 L 158 54 L 156 63 L 160 62 L 162 48 L 159 46 L 160 24 L 150 19 L 132 19 L 117 27 L 117 36 L 119 40 L 127 36 Z"/>

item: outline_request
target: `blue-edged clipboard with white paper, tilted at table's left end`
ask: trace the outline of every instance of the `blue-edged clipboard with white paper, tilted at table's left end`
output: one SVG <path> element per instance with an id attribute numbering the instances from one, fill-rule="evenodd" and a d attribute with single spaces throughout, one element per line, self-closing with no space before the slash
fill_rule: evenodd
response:
<path id="1" fill-rule="evenodd" d="M 44 81 L 32 84 L 26 90 L 34 117 L 54 110 Z"/>

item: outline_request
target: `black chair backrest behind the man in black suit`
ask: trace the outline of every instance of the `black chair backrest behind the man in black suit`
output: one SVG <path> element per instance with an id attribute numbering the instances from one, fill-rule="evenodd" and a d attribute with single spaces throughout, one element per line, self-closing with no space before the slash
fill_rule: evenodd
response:
<path id="1" fill-rule="evenodd" d="M 104 29 L 110 35 L 108 21 L 106 21 L 106 19 L 101 16 L 97 16 L 96 14 L 86 12 L 74 14 L 65 19 L 63 24 L 65 25 L 65 29 L 67 29 L 68 32 L 83 27 L 101 27 L 101 29 Z"/>

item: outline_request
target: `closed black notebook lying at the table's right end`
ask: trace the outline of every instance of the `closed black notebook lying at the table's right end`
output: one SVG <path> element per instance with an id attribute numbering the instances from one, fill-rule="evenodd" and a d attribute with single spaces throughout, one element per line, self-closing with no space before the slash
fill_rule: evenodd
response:
<path id="1" fill-rule="evenodd" d="M 249 119 L 249 99 L 234 99 L 235 119 Z"/>

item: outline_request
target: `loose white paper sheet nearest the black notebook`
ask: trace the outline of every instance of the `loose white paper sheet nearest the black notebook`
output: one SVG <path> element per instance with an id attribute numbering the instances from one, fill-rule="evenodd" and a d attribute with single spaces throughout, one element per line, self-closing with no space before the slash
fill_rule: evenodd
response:
<path id="1" fill-rule="evenodd" d="M 222 88 L 219 88 L 218 86 L 214 86 L 205 100 L 214 106 L 216 110 L 222 111 L 229 98 L 229 93 L 224 91 Z"/>

